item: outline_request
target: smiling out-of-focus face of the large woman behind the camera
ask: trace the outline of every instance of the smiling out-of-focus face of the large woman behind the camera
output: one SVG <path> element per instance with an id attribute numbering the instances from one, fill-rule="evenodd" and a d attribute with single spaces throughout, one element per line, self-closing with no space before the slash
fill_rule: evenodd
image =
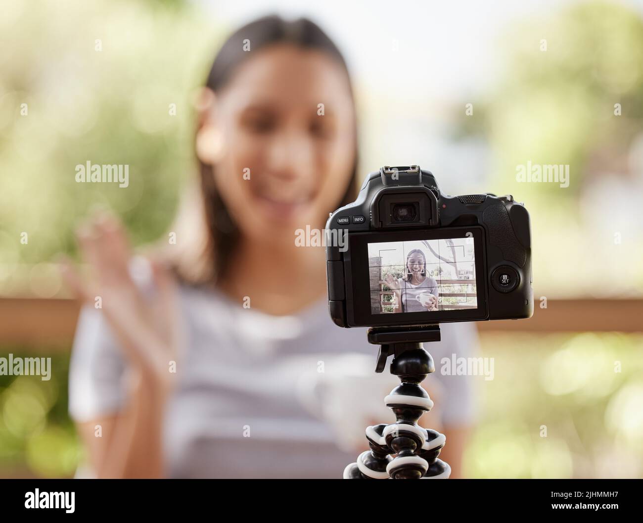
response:
<path id="1" fill-rule="evenodd" d="M 340 64 L 323 51 L 277 44 L 240 64 L 213 96 L 197 151 L 214 165 L 243 235 L 294 242 L 297 228 L 323 226 L 345 193 L 355 127 Z"/>

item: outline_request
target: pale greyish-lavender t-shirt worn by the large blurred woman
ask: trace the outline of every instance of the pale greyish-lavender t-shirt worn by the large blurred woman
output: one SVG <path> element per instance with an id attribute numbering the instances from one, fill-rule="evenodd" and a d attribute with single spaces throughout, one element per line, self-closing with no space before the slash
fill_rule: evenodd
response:
<path id="1" fill-rule="evenodd" d="M 326 300 L 275 317 L 219 291 L 182 286 L 179 298 L 186 347 L 163 429 L 170 477 L 338 478 L 367 448 L 365 428 L 395 421 L 384 397 L 399 379 L 388 365 L 376 374 L 367 329 L 334 325 Z M 445 425 L 467 425 L 475 377 L 439 369 L 442 357 L 476 353 L 475 326 L 443 324 L 441 332 L 441 342 L 425 345 L 436 372 L 422 384 L 442 391 Z M 124 371 L 100 309 L 84 308 L 70 363 L 71 417 L 118 411 Z"/>

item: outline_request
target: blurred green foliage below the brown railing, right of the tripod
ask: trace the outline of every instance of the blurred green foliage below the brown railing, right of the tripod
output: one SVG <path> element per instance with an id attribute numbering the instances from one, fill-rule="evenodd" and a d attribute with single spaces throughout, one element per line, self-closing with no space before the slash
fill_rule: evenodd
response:
<path id="1" fill-rule="evenodd" d="M 480 378 L 465 477 L 641 477 L 643 336 L 489 333 L 482 345 L 495 378 Z"/>

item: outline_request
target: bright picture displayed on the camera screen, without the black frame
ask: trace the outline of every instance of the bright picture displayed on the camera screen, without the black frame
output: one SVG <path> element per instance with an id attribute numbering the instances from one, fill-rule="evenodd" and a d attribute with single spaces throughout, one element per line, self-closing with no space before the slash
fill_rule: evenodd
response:
<path id="1" fill-rule="evenodd" d="M 476 309 L 473 238 L 368 244 L 372 314 Z"/>

